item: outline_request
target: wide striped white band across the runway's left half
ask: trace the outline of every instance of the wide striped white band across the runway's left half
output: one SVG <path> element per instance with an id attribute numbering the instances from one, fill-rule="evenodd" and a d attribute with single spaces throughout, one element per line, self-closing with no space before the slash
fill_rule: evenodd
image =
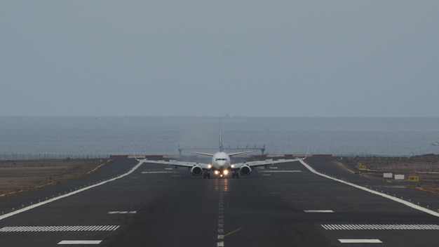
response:
<path id="1" fill-rule="evenodd" d="M 56 225 L 56 226 L 24 226 L 2 227 L 0 232 L 112 232 L 119 225 Z"/>

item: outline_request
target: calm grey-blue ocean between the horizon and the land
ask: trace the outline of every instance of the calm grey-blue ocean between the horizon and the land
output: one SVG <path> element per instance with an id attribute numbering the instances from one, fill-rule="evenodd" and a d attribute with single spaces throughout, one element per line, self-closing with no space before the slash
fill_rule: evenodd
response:
<path id="1" fill-rule="evenodd" d="M 179 147 L 215 152 L 218 132 L 219 118 L 210 116 L 0 116 L 0 159 L 176 155 Z M 412 156 L 438 154 L 437 141 L 439 118 L 222 118 L 229 152 Z"/>

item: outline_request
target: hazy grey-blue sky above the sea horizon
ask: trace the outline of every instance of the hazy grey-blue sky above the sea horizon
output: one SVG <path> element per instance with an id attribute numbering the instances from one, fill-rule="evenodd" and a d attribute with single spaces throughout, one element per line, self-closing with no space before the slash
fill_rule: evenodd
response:
<path id="1" fill-rule="evenodd" d="M 0 115 L 439 116 L 439 1 L 0 1 Z"/>

